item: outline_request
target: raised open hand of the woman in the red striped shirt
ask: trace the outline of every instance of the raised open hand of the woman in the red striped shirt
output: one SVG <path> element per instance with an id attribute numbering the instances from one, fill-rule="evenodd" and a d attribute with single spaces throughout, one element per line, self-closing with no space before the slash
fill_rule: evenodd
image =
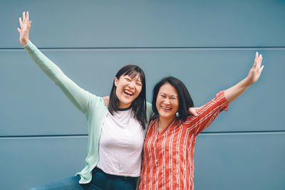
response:
<path id="1" fill-rule="evenodd" d="M 262 63 L 262 55 L 257 52 L 255 54 L 254 65 L 249 70 L 249 74 L 247 75 L 247 80 L 251 85 L 257 82 L 257 80 L 259 80 L 261 71 L 264 68 L 264 65 L 261 66 L 261 63 Z"/>

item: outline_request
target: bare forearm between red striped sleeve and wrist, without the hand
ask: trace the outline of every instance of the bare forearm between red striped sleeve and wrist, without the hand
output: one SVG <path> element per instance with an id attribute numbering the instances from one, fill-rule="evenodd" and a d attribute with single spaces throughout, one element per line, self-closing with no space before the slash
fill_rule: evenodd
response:
<path id="1" fill-rule="evenodd" d="M 244 80 L 237 83 L 237 85 L 232 86 L 231 88 L 224 90 L 224 97 L 226 97 L 228 102 L 232 102 L 239 97 L 242 93 L 244 93 L 249 86 L 252 85 L 248 78 L 244 78 Z"/>

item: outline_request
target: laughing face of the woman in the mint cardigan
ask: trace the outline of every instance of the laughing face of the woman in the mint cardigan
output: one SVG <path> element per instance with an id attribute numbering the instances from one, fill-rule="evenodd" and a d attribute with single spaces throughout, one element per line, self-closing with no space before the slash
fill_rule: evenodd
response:
<path id="1" fill-rule="evenodd" d="M 131 77 L 130 75 L 121 75 L 120 78 L 115 78 L 115 94 L 119 100 L 119 108 L 130 107 L 133 100 L 140 95 L 142 91 L 142 81 L 140 75 Z"/>

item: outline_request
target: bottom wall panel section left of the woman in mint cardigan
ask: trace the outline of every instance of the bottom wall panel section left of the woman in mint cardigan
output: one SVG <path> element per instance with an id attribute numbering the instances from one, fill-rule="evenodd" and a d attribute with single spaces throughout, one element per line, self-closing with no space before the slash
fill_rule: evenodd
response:
<path id="1" fill-rule="evenodd" d="M 85 166 L 87 137 L 0 138 L 0 189 L 28 189 L 74 176 Z"/>

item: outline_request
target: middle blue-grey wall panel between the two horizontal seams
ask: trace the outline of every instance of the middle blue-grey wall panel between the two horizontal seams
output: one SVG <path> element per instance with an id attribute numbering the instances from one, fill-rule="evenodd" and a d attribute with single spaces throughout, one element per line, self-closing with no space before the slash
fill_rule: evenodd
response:
<path id="1" fill-rule="evenodd" d="M 89 50 L 44 51 L 82 88 L 108 95 L 117 70 L 140 65 L 147 78 L 147 100 L 162 77 L 180 78 L 197 107 L 242 80 L 252 66 L 254 50 Z M 260 80 L 232 102 L 207 132 L 285 130 L 283 114 L 284 51 L 259 50 L 264 55 Z M 83 114 L 38 69 L 24 51 L 2 51 L 0 58 L 1 135 L 86 134 Z M 274 111 L 272 111 L 274 110 Z"/>

